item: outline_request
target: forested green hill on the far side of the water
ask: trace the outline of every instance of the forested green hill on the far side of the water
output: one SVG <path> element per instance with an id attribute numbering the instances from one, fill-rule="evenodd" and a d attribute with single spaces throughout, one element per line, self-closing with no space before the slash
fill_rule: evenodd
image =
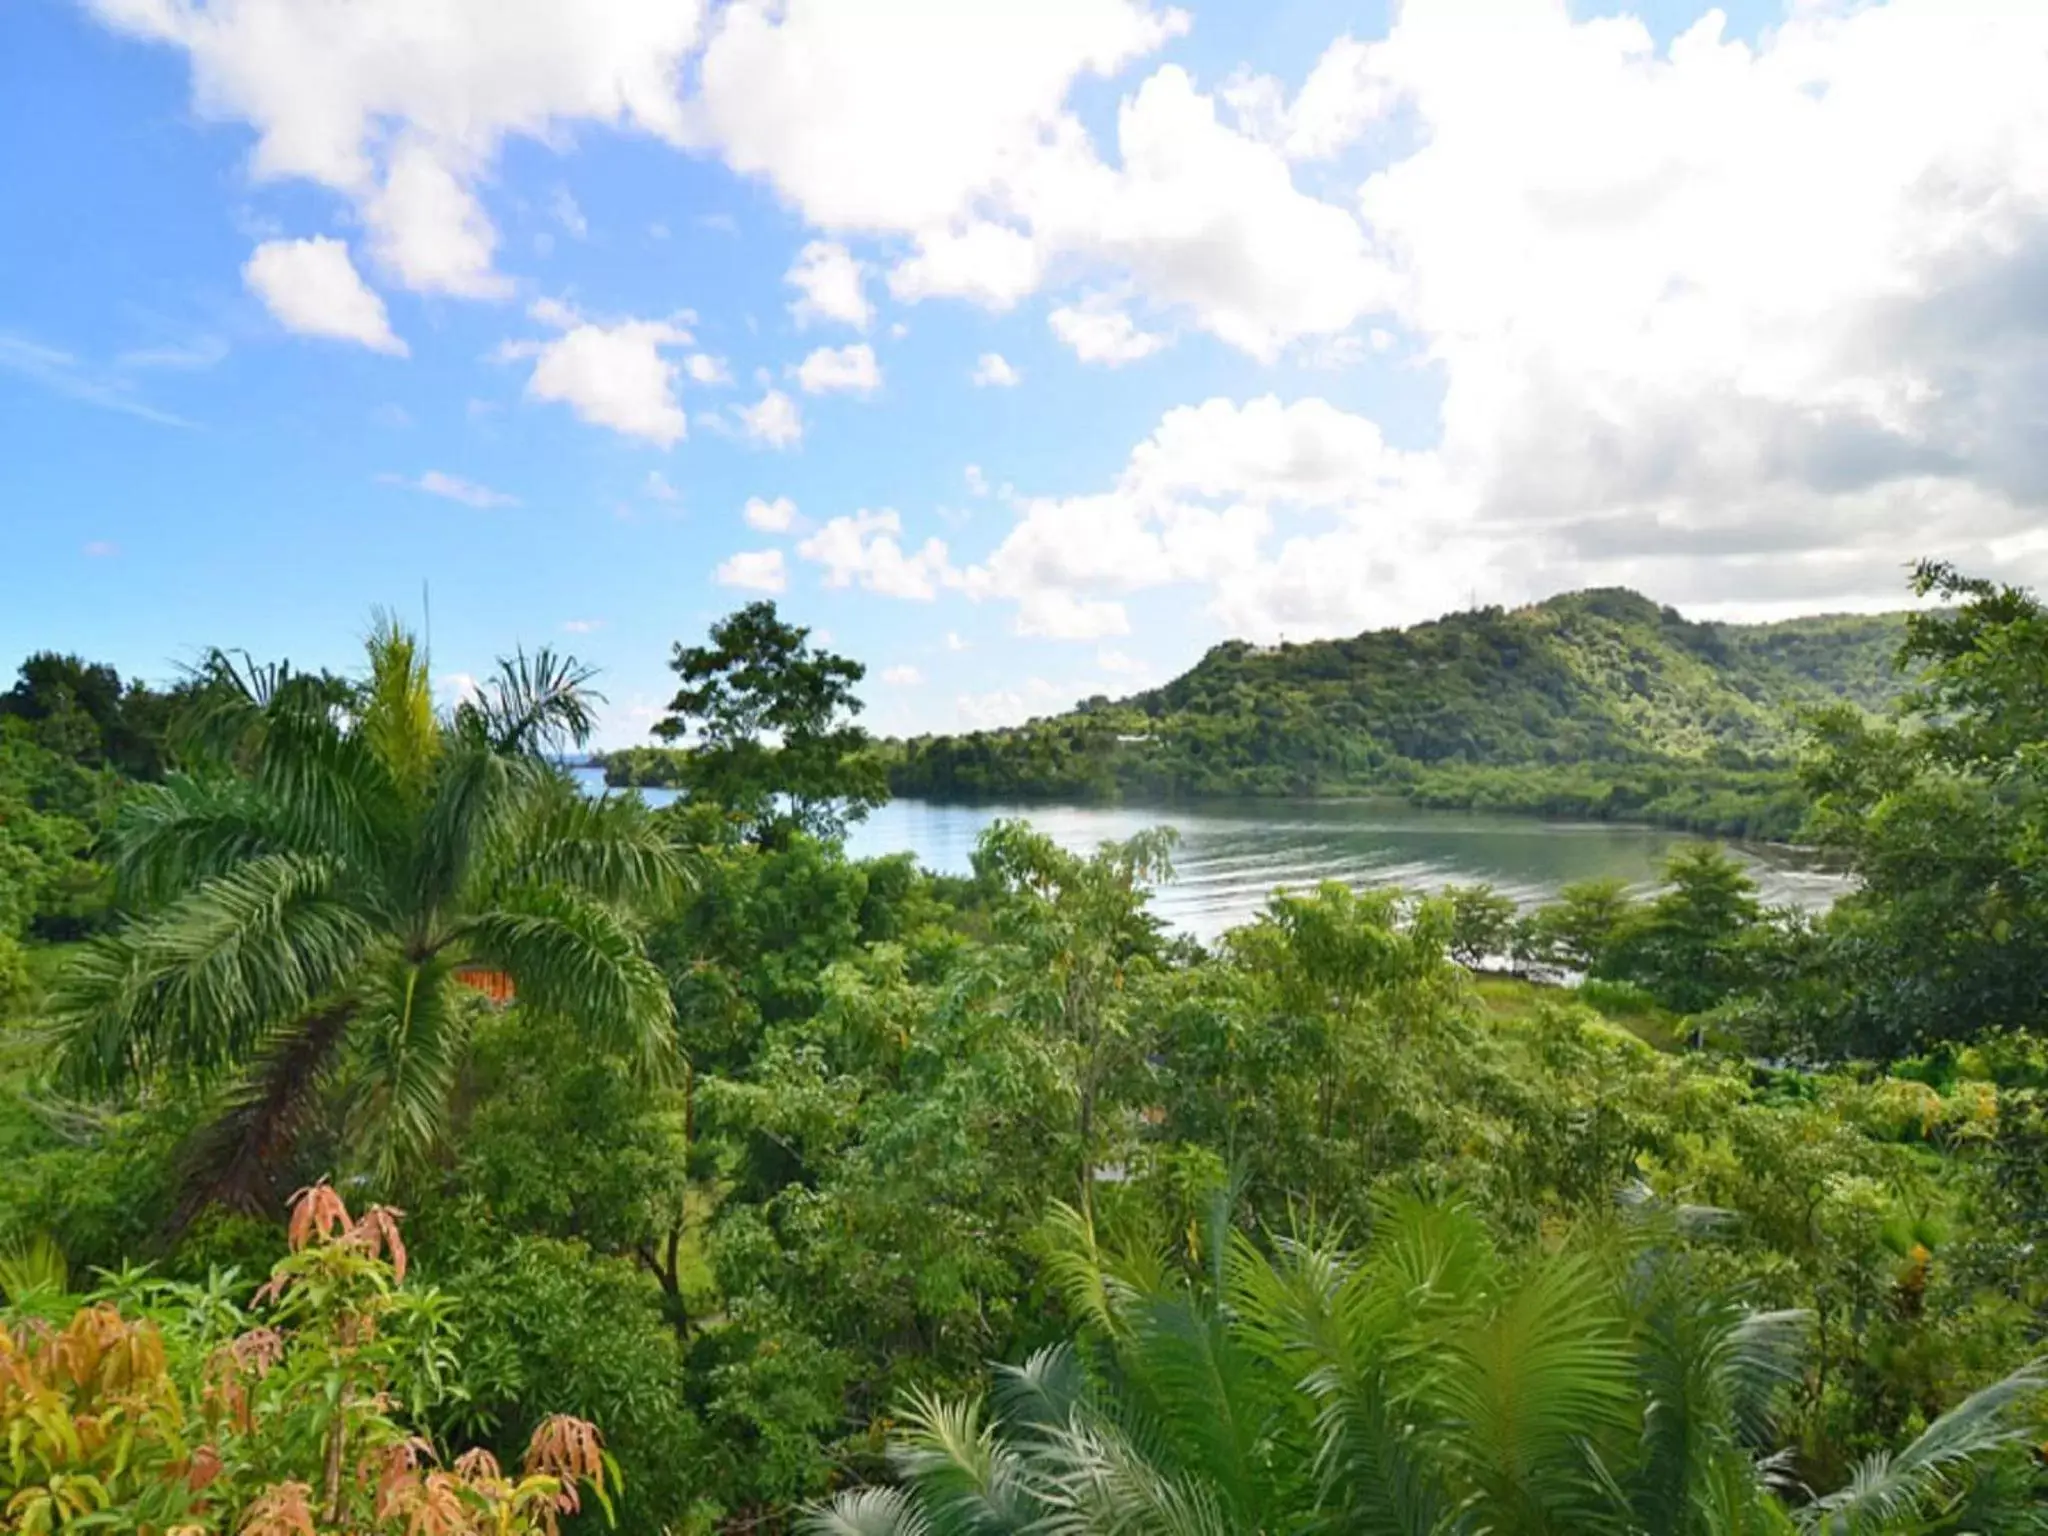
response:
<path id="1" fill-rule="evenodd" d="M 889 743 L 897 795 L 1401 793 L 1788 836 L 1794 713 L 1896 690 L 1898 614 L 1694 623 L 1604 588 L 1309 645 L 1229 641 L 1124 700 Z"/>

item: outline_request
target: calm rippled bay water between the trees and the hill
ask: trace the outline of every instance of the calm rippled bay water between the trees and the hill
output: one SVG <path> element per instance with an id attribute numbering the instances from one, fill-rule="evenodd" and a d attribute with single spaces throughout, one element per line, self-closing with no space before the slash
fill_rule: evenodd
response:
<path id="1" fill-rule="evenodd" d="M 602 774 L 580 772 L 602 788 Z M 670 791 L 643 791 L 659 805 Z M 1538 821 L 1481 811 L 1423 811 L 1389 801 L 1200 801 L 1194 805 L 936 805 L 891 801 L 848 836 L 856 858 L 911 852 L 926 868 L 965 874 L 975 840 L 997 817 L 1022 817 L 1065 848 L 1087 852 L 1145 827 L 1180 831 L 1174 881 L 1153 909 L 1174 928 L 1210 940 L 1249 922 L 1276 887 L 1343 881 L 1352 887 L 1487 881 L 1522 903 L 1561 885 L 1616 877 L 1651 887 L 1683 834 L 1604 821 Z M 1825 907 L 1847 881 L 1812 858 L 1774 846 L 1726 844 L 1749 864 L 1772 903 Z"/>

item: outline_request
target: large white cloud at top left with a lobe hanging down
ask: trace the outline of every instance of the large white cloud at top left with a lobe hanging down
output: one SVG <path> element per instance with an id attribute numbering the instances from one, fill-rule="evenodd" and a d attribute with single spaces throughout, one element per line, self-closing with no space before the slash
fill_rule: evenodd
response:
<path id="1" fill-rule="evenodd" d="M 477 199 L 510 135 L 575 123 L 682 135 L 676 70 L 698 4 L 575 0 L 90 0 L 109 25 L 182 47 L 195 106 L 256 129 L 250 174 L 350 199 L 377 260 L 422 291 L 498 297 Z"/>

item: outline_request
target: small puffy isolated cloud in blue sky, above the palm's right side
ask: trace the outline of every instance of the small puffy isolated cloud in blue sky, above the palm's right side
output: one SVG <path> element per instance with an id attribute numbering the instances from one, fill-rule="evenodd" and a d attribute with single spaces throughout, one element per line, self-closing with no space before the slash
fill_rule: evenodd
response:
<path id="1" fill-rule="evenodd" d="M 690 332 L 668 319 L 584 319 L 543 299 L 535 319 L 567 330 L 551 342 L 512 342 L 502 356 L 532 356 L 526 397 L 559 401 L 592 426 L 643 438 L 664 449 L 688 436 L 676 401 L 674 362 L 666 346 L 688 346 Z"/>

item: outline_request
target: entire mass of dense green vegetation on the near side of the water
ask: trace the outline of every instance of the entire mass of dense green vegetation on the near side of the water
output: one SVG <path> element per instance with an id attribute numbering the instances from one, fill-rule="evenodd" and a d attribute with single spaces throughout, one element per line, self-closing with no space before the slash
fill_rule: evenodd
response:
<path id="1" fill-rule="evenodd" d="M 0 725 L 0 1509 L 2038 1530 L 2048 616 L 1921 582 L 1896 717 L 1798 750 L 1821 918 L 1700 848 L 1202 948 L 1161 834 L 850 860 L 858 668 L 766 606 L 678 649 L 655 813 L 551 768 L 571 662 L 444 715 L 391 627 L 213 657 L 160 782 Z"/>

